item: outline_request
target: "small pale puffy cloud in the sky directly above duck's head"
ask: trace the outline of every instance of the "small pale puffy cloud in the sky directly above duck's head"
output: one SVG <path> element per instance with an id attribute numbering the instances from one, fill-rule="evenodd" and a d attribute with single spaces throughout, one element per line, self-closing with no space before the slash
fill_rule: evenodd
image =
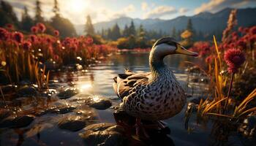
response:
<path id="1" fill-rule="evenodd" d="M 152 9 L 143 16 L 143 18 L 161 18 L 165 15 L 172 15 L 177 12 L 175 7 L 170 6 L 159 6 L 155 9 Z"/>

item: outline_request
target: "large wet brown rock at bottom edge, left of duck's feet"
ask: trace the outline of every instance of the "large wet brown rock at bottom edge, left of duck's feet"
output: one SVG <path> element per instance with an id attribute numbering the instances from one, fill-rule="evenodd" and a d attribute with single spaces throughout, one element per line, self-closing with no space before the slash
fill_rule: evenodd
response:
<path id="1" fill-rule="evenodd" d="M 129 143 L 124 133 L 124 128 L 113 123 L 97 123 L 86 126 L 85 132 L 79 135 L 86 145 L 118 146 Z"/>

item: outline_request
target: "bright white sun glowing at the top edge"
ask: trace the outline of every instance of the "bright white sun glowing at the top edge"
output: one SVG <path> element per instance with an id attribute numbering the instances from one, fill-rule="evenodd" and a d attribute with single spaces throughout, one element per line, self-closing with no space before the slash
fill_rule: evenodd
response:
<path id="1" fill-rule="evenodd" d="M 89 5 L 88 0 L 72 0 L 72 2 L 70 2 L 69 7 L 72 10 L 72 12 L 81 12 L 84 9 L 86 9 L 88 5 Z"/>

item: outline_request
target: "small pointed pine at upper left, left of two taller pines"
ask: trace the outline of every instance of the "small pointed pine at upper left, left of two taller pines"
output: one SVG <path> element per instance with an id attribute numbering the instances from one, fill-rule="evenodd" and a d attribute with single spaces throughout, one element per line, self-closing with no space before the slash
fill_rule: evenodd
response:
<path id="1" fill-rule="evenodd" d="M 21 23 L 21 28 L 24 31 L 30 31 L 30 28 L 34 24 L 32 18 L 29 16 L 29 12 L 28 12 L 28 9 L 26 7 L 24 7 L 24 12 L 22 14 L 20 23 Z"/>

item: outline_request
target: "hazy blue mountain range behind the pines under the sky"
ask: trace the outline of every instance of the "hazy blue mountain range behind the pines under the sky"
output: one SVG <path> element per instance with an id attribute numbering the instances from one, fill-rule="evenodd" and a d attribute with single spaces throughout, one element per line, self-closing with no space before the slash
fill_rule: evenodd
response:
<path id="1" fill-rule="evenodd" d="M 230 15 L 230 11 L 232 9 L 226 8 L 222 9 L 219 12 L 211 13 L 211 12 L 201 12 L 197 15 L 193 16 L 180 16 L 178 18 L 174 18 L 171 20 L 161 20 L 161 19 L 139 19 L 139 18 L 117 18 L 114 20 L 95 23 L 94 28 L 96 31 L 101 31 L 103 29 L 112 28 L 116 23 L 120 28 L 124 28 L 125 25 L 129 26 L 131 21 L 133 20 L 135 23 L 135 27 L 138 28 L 140 24 L 146 28 L 146 30 L 162 30 L 167 34 L 170 33 L 173 27 L 176 30 L 183 30 L 187 26 L 187 21 L 189 18 L 192 20 L 193 27 L 197 32 L 201 32 L 203 34 L 213 34 L 214 32 L 222 32 L 227 26 L 227 19 Z M 256 8 L 246 8 L 246 9 L 238 9 L 237 19 L 238 26 L 252 26 L 256 25 Z M 75 26 L 78 34 L 82 34 L 83 26 Z"/>

